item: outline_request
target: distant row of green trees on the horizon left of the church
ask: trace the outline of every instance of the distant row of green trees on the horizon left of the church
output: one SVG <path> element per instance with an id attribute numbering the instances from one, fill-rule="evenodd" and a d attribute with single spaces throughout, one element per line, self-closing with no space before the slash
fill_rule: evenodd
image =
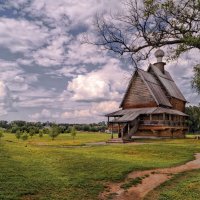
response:
<path id="1" fill-rule="evenodd" d="M 30 136 L 34 134 L 48 134 L 48 129 L 54 127 L 54 122 L 26 122 L 21 120 L 16 121 L 0 121 L 0 128 L 5 129 L 11 133 L 26 132 Z M 104 132 L 106 130 L 106 123 L 92 123 L 92 124 L 65 124 L 57 123 L 56 127 L 59 133 L 71 133 L 71 129 L 74 127 L 77 131 L 87 132 Z"/>

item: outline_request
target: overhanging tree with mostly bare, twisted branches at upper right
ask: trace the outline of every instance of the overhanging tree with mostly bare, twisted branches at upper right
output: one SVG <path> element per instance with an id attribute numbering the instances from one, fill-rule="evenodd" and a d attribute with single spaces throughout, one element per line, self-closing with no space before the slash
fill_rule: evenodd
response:
<path id="1" fill-rule="evenodd" d="M 96 16 L 95 33 L 97 40 L 85 42 L 129 55 L 135 64 L 163 46 L 177 58 L 200 49 L 200 0 L 127 0 L 121 14 Z"/>

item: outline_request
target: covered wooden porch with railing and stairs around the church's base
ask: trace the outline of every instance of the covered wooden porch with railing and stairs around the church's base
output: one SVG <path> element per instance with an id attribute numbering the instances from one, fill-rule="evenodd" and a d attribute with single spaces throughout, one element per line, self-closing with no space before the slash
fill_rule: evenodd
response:
<path id="1" fill-rule="evenodd" d="M 149 135 L 164 136 L 168 134 L 169 137 L 173 137 L 173 133 L 185 132 L 187 127 L 187 116 L 175 115 L 175 114 L 141 114 L 133 121 L 117 122 L 119 116 L 115 116 L 112 121 L 109 121 L 108 126 L 111 130 L 111 139 L 113 138 L 113 133 L 118 133 L 118 138 L 131 139 L 137 132 L 149 131 Z M 156 133 L 156 134 L 155 134 Z"/>

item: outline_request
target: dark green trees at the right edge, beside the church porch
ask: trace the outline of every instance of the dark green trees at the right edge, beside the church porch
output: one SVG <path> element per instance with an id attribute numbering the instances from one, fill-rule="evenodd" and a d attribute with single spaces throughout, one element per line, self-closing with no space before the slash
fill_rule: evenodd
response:
<path id="1" fill-rule="evenodd" d="M 200 132 L 200 105 L 186 107 L 188 117 L 189 132 Z"/>

